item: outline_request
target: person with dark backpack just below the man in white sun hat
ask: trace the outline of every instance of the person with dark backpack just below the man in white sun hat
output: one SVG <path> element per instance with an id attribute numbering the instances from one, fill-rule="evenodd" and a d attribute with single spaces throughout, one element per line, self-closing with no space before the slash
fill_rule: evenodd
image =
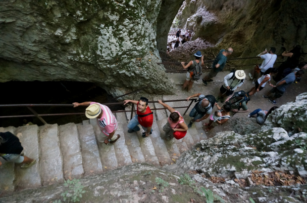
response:
<path id="1" fill-rule="evenodd" d="M 225 103 L 231 105 L 232 113 L 245 113 L 249 111 L 249 108 L 247 107 L 249 101 L 250 95 L 245 91 L 241 90 L 235 92 L 233 95 L 230 95 L 230 97 L 226 99 Z"/>

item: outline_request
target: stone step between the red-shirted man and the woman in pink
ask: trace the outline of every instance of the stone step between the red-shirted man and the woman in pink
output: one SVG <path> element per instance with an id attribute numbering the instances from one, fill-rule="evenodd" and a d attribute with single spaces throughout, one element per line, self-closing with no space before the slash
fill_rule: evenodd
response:
<path id="1" fill-rule="evenodd" d="M 170 164 L 172 161 L 170 155 L 168 154 L 164 140 L 161 139 L 160 130 L 156 121 L 153 121 L 152 127 L 153 133 L 150 135 L 150 138 L 152 139 L 155 155 L 161 165 Z"/>

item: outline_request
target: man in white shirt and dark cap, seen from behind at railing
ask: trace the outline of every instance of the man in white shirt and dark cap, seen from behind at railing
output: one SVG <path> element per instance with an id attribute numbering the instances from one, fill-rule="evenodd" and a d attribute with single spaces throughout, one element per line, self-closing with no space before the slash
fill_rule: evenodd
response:
<path id="1" fill-rule="evenodd" d="M 255 84 L 256 80 L 260 77 L 263 76 L 264 72 L 269 69 L 269 68 L 273 68 L 273 65 L 276 61 L 277 55 L 274 54 L 276 51 L 275 47 L 271 47 L 269 49 L 269 51 L 267 52 L 267 50 L 265 49 L 260 55 L 259 57 L 264 59 L 262 61 L 261 66 L 258 67 L 258 65 L 255 66 L 255 68 L 253 69 L 253 73 L 249 74 L 250 78 L 253 80 L 253 84 Z"/>

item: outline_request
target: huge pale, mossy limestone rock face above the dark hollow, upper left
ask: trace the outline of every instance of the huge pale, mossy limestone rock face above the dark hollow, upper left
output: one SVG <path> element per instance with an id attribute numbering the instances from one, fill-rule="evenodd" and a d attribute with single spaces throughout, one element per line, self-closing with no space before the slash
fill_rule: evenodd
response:
<path id="1" fill-rule="evenodd" d="M 171 93 L 156 49 L 161 0 L 2 0 L 0 82 L 88 81 Z"/>

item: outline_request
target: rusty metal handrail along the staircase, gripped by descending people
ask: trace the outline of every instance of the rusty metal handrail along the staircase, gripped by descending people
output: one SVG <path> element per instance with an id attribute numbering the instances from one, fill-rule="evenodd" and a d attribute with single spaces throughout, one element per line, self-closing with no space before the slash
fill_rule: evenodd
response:
<path id="1" fill-rule="evenodd" d="M 187 113 L 189 108 L 191 107 L 193 101 L 196 99 L 190 99 L 189 106 L 184 107 L 172 107 L 173 109 L 180 109 L 180 108 L 187 108 L 184 112 L 183 116 Z M 175 100 L 162 100 L 163 102 L 179 102 L 179 101 L 187 101 L 187 99 L 175 99 Z M 158 101 L 149 101 L 149 103 L 158 103 Z M 123 105 L 124 102 L 114 102 L 114 103 L 104 103 L 103 105 L 111 106 L 111 105 Z M 1 104 L 0 107 L 27 107 L 33 115 L 17 115 L 17 116 L 0 116 L 0 119 L 5 118 L 20 118 L 20 117 L 37 117 L 41 122 L 44 124 L 47 124 L 47 122 L 42 118 L 45 116 L 70 116 L 70 115 L 84 115 L 85 113 L 63 113 L 63 114 L 38 114 L 32 107 L 73 107 L 73 104 Z M 167 108 L 154 108 L 151 110 L 163 110 Z M 131 112 L 131 118 L 133 117 L 133 112 L 136 112 L 134 110 L 134 104 L 132 105 L 131 111 L 112 111 L 112 113 L 125 113 L 125 112 Z"/>

